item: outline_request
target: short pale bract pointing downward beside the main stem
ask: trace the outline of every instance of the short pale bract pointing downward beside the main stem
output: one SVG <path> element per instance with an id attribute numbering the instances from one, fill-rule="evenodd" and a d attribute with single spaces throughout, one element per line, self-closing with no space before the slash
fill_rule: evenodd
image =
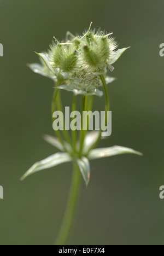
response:
<path id="1" fill-rule="evenodd" d="M 86 187 L 90 181 L 90 163 L 87 158 L 83 156 L 83 158 L 77 160 L 77 164 L 80 168 L 81 174 L 84 178 Z"/>

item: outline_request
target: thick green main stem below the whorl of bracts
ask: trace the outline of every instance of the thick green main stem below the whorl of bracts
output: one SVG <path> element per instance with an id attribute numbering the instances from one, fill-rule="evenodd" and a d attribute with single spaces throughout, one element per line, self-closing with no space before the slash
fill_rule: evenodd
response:
<path id="1" fill-rule="evenodd" d="M 58 234 L 55 245 L 66 245 L 67 243 L 68 235 L 69 235 L 69 232 L 71 231 L 71 226 L 74 220 L 75 210 L 76 210 L 77 201 L 79 197 L 80 180 L 81 180 L 81 173 L 77 163 L 75 163 L 73 176 L 72 176 L 72 185 L 71 185 L 71 190 L 69 192 L 66 212 L 65 212 L 65 216 L 63 218 L 61 229 Z"/>

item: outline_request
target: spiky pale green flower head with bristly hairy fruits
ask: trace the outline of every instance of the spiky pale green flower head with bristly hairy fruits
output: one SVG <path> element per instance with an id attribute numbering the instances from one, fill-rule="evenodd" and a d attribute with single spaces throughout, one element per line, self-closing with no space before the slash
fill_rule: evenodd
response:
<path id="1" fill-rule="evenodd" d="M 83 36 L 74 36 L 67 32 L 63 42 L 52 42 L 47 53 L 38 54 L 42 58 L 42 65 L 29 65 L 39 74 L 53 79 L 60 89 L 78 91 L 79 94 L 94 92 L 102 85 L 100 74 L 107 77 L 107 70 L 113 70 L 113 63 L 119 59 L 127 48 L 116 50 L 118 44 L 112 33 L 89 30 Z"/>

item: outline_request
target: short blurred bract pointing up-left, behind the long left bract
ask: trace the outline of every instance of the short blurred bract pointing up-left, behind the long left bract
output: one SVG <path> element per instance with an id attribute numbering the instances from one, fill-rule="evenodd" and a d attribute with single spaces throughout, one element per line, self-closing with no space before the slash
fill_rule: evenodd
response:
<path id="1" fill-rule="evenodd" d="M 54 136 L 51 136 L 51 135 L 44 135 L 43 138 L 46 142 L 48 142 L 49 144 L 51 144 L 55 148 L 61 150 L 62 152 L 65 152 L 65 149 L 63 148 L 63 146 L 62 146 L 62 144 L 61 144 L 61 142 L 58 138 L 56 138 Z M 65 143 L 66 148 L 70 152 L 71 151 L 71 146 L 66 141 L 64 143 Z"/>

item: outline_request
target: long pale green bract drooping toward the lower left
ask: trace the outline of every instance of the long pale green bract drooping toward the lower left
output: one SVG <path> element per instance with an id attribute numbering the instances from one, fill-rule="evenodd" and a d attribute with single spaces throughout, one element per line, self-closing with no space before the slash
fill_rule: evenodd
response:
<path id="1" fill-rule="evenodd" d="M 24 176 L 21 177 L 21 181 L 23 179 L 25 179 L 27 176 L 44 170 L 44 169 L 48 169 L 51 167 L 54 167 L 56 165 L 60 165 L 63 164 L 64 162 L 70 162 L 72 161 L 71 156 L 68 153 L 56 153 L 54 155 L 49 156 L 48 158 L 36 162 L 36 164 L 34 164 L 25 174 Z"/>

